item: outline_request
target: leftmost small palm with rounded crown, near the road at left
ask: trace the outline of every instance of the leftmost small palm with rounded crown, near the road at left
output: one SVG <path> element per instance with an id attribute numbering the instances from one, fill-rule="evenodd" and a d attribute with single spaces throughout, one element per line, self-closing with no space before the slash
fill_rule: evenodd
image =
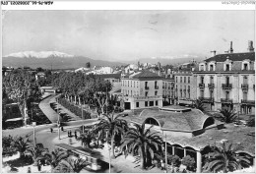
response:
<path id="1" fill-rule="evenodd" d="M 27 149 L 29 149 L 32 145 L 29 142 L 29 139 L 26 138 L 15 138 L 13 142 L 13 146 L 17 148 L 17 150 L 20 152 L 20 157 L 24 158 L 25 157 L 25 152 Z"/>

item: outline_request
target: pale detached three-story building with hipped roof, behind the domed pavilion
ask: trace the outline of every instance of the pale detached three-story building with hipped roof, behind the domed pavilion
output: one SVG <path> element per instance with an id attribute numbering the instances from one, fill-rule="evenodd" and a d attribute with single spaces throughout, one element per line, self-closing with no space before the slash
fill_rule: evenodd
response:
<path id="1" fill-rule="evenodd" d="M 121 79 L 124 109 L 162 107 L 162 78 L 148 70 Z"/>

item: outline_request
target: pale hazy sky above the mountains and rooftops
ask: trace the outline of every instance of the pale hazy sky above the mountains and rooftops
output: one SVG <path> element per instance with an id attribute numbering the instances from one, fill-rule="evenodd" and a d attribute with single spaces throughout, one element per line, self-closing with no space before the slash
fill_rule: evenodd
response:
<path id="1" fill-rule="evenodd" d="M 8 11 L 3 55 L 60 51 L 101 60 L 209 57 L 255 47 L 254 11 Z"/>

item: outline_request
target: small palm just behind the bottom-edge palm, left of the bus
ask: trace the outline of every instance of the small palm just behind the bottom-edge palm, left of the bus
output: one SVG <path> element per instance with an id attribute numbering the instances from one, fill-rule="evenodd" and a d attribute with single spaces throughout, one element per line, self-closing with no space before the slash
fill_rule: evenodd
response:
<path id="1" fill-rule="evenodd" d="M 60 161 L 62 159 L 66 159 L 69 156 L 69 154 L 65 150 L 60 150 L 58 148 L 55 148 L 54 151 L 51 152 L 51 154 L 48 153 L 45 156 L 47 158 L 47 161 L 51 165 L 51 169 L 53 170 L 55 167 L 58 166 Z"/>

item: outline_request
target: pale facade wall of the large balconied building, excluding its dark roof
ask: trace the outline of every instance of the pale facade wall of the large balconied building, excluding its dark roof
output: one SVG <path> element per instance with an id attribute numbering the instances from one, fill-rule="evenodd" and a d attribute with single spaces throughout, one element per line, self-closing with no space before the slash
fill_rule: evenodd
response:
<path id="1" fill-rule="evenodd" d="M 219 63 L 217 63 L 218 65 Z M 221 63 L 220 63 L 221 65 Z M 230 108 L 235 110 L 236 112 L 239 111 L 241 114 L 254 114 L 255 113 L 255 89 L 253 86 L 255 86 L 255 74 L 251 69 L 254 69 L 254 63 L 250 63 L 250 70 L 248 71 L 241 71 L 242 63 L 241 62 L 233 62 L 232 63 L 232 70 L 237 70 L 236 72 L 225 72 L 224 71 L 224 63 L 222 63 L 217 70 L 219 72 L 209 72 L 205 71 L 203 72 L 194 72 L 195 80 L 196 80 L 196 97 L 199 99 L 201 97 L 201 89 L 199 87 L 199 84 L 201 84 L 201 77 L 204 77 L 204 98 L 210 98 L 210 89 L 208 87 L 208 84 L 210 84 L 210 77 L 214 78 L 214 90 L 213 90 L 213 97 L 214 97 L 214 103 L 212 105 L 212 108 L 208 107 L 209 110 L 218 110 L 222 107 L 225 107 L 226 104 L 222 102 L 222 98 L 226 98 L 226 90 L 223 88 L 223 84 L 226 84 L 226 77 L 229 77 L 229 84 L 232 85 L 232 87 L 227 90 L 229 91 L 229 99 L 232 101 L 230 103 Z M 206 64 L 207 66 L 207 64 Z M 223 69 L 222 69 L 223 67 Z M 247 77 L 247 85 L 248 89 L 244 90 L 242 89 L 241 85 L 244 84 L 244 77 Z M 244 98 L 244 92 L 247 91 L 247 98 Z M 250 103 L 242 103 L 242 99 L 246 99 L 247 101 L 250 101 Z M 206 105 L 209 105 L 209 103 L 206 102 Z"/>

